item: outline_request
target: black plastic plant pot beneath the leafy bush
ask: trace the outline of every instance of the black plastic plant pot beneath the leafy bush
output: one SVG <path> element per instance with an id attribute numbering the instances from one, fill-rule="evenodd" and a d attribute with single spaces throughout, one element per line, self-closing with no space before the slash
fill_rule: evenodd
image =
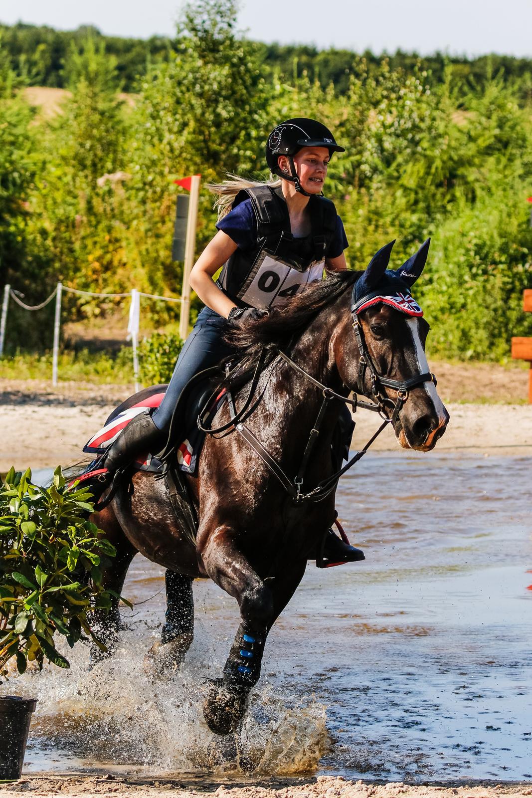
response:
<path id="1" fill-rule="evenodd" d="M 0 696 L 0 780 L 20 779 L 36 698 Z"/>

